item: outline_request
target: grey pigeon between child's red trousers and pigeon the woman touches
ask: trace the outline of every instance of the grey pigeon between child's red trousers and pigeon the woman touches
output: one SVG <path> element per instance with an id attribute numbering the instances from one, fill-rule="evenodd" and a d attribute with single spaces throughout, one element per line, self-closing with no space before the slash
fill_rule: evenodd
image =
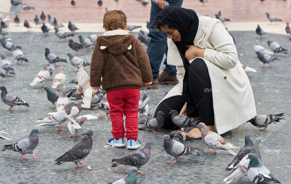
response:
<path id="1" fill-rule="evenodd" d="M 152 128 L 154 133 L 157 133 L 157 131 L 162 131 L 162 130 L 157 130 L 157 129 L 162 128 L 162 126 L 165 123 L 165 118 L 163 115 L 165 115 L 165 114 L 162 111 L 159 111 L 157 113 L 156 118 L 141 122 L 141 123 L 145 124 L 145 126 L 140 127 L 139 130 L 142 130 L 145 128 Z"/>

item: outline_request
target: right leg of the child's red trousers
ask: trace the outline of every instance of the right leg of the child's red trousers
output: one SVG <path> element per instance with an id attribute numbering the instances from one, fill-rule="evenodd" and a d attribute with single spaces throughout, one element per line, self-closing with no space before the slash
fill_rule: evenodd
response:
<path id="1" fill-rule="evenodd" d="M 125 138 L 136 139 L 139 136 L 138 109 L 139 109 L 139 89 L 127 88 L 124 98 L 123 113 L 125 115 Z"/>

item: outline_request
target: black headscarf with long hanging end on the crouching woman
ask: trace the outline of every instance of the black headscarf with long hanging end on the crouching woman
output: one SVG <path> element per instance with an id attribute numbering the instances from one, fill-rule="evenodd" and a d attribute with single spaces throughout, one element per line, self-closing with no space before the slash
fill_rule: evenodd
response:
<path id="1" fill-rule="evenodd" d="M 193 41 L 198 30 L 199 18 L 194 10 L 176 6 L 168 6 L 160 11 L 157 19 L 160 19 L 170 27 L 177 29 L 181 35 L 182 41 L 178 42 L 173 40 L 173 42 L 178 48 L 185 68 L 182 93 L 183 100 L 185 102 L 190 102 L 192 101 L 188 87 L 188 73 L 190 63 L 185 57 L 185 53 L 188 49 L 185 44 L 193 45 Z"/>

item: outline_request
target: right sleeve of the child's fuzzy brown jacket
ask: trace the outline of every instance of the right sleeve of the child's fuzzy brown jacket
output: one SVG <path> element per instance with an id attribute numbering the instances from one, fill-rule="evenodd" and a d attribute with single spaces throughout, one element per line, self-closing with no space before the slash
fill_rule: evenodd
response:
<path id="1" fill-rule="evenodd" d="M 152 68 L 149 64 L 149 56 L 146 54 L 145 49 L 142 47 L 142 43 L 136 40 L 135 51 L 137 57 L 137 63 L 139 64 L 140 71 L 142 73 L 143 82 L 152 81 Z"/>

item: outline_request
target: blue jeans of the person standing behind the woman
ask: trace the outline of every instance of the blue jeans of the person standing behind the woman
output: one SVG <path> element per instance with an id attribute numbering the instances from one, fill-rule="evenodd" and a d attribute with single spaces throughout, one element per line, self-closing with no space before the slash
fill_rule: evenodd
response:
<path id="1" fill-rule="evenodd" d="M 167 0 L 170 6 L 182 6 L 183 0 Z M 161 66 L 162 59 L 164 54 L 168 52 L 168 45 L 167 45 L 167 34 L 160 31 L 157 31 L 156 24 L 157 24 L 157 17 L 159 12 L 162 9 L 156 3 L 152 2 L 151 7 L 151 16 L 149 20 L 149 34 L 148 36 L 151 37 L 149 41 L 148 49 L 146 53 L 149 55 L 149 63 L 151 64 L 152 68 L 152 77 L 154 79 L 159 77 L 159 69 Z M 167 64 L 167 58 L 164 61 L 166 64 L 166 70 L 169 72 L 170 75 L 176 75 L 177 70 L 176 66 L 172 66 Z"/>

